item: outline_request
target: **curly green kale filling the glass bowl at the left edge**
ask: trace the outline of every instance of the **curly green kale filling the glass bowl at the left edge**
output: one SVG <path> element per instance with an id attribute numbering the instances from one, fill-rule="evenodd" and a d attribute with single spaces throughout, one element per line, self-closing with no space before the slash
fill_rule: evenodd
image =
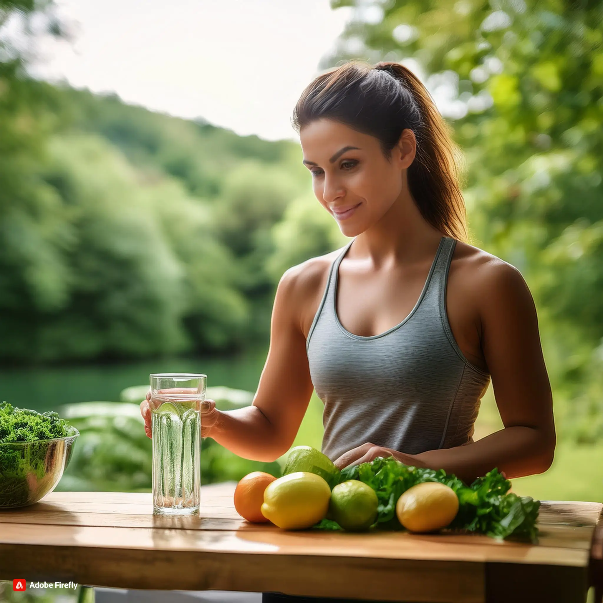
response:
<path id="1" fill-rule="evenodd" d="M 55 411 L 39 413 L 0 404 L 0 444 L 53 440 L 68 435 L 68 423 Z"/>

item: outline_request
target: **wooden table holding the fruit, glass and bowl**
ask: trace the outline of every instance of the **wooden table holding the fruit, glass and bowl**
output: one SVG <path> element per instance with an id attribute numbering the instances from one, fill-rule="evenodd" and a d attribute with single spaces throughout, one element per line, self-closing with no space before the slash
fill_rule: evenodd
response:
<path id="1" fill-rule="evenodd" d="M 0 579 L 384 601 L 583 603 L 589 573 L 593 578 L 603 563 L 599 503 L 543 501 L 540 540 L 532 546 L 483 535 L 282 531 L 241 519 L 235 485 L 203 486 L 194 517 L 153 515 L 151 494 L 111 492 L 54 492 L 30 507 L 0 511 Z"/>

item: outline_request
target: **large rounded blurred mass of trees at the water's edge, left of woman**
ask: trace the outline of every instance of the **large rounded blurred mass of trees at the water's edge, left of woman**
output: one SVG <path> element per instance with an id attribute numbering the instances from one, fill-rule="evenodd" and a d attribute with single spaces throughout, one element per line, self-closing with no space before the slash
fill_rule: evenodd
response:
<path id="1" fill-rule="evenodd" d="M 93 134 L 54 136 L 46 204 L 6 216 L 0 355 L 148 356 L 232 343 L 247 319 L 212 213 L 182 185 L 141 185 Z M 187 327 L 185 329 L 185 327 Z"/>

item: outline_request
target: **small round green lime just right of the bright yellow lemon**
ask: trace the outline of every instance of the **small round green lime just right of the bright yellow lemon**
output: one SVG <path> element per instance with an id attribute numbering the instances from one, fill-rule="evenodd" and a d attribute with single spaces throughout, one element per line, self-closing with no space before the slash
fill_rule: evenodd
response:
<path id="1" fill-rule="evenodd" d="M 367 529 L 377 519 L 378 506 L 377 493 L 370 485 L 358 479 L 348 479 L 333 488 L 329 518 L 343 529 Z"/>

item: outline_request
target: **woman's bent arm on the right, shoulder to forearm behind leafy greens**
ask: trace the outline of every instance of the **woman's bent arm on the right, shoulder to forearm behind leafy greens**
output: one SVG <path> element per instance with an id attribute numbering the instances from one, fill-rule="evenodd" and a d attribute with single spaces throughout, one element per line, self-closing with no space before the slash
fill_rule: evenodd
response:
<path id="1" fill-rule="evenodd" d="M 482 350 L 504 429 L 481 440 L 414 455 L 470 484 L 494 467 L 508 479 L 543 473 L 553 462 L 555 423 L 551 384 L 538 333 L 534 300 L 522 274 L 491 260 L 476 283 Z"/>

